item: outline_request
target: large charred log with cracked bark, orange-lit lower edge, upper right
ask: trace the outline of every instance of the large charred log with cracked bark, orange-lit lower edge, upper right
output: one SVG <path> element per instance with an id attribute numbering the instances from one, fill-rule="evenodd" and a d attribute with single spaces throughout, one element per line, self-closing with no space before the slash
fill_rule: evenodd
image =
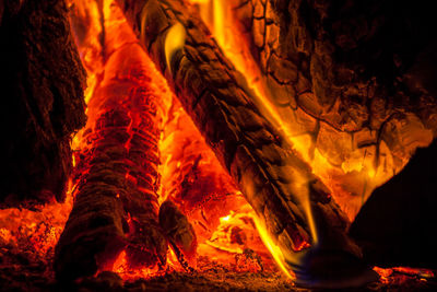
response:
<path id="1" fill-rule="evenodd" d="M 393 1 L 228 4 L 272 102 L 339 173 L 330 185 L 346 186 L 340 191 L 350 195 L 336 199 L 353 218 L 362 196 L 367 199 L 436 136 L 436 90 L 427 77 L 435 75 L 433 16 Z M 369 187 L 364 172 L 342 170 L 357 157 L 378 170 L 380 182 Z"/>

